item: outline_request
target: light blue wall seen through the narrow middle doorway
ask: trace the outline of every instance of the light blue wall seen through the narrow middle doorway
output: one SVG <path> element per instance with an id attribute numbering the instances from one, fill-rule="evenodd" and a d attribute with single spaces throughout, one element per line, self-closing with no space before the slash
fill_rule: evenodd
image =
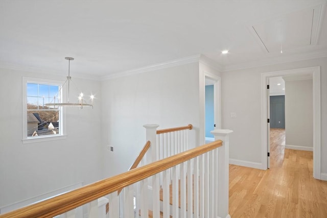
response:
<path id="1" fill-rule="evenodd" d="M 205 86 L 205 137 L 213 138 L 210 131 L 214 130 L 214 85 Z"/>

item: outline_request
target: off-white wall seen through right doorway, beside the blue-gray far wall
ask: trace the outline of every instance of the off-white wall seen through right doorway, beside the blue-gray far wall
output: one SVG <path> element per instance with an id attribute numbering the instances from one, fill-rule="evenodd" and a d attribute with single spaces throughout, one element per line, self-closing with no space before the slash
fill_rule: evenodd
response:
<path id="1" fill-rule="evenodd" d="M 312 80 L 285 81 L 285 140 L 287 148 L 313 147 Z"/>

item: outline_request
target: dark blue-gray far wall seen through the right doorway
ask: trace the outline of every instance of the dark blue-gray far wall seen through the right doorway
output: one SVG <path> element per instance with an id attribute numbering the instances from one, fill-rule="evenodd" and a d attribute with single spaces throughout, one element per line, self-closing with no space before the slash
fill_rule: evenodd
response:
<path id="1" fill-rule="evenodd" d="M 285 95 L 270 96 L 270 128 L 285 129 Z"/>

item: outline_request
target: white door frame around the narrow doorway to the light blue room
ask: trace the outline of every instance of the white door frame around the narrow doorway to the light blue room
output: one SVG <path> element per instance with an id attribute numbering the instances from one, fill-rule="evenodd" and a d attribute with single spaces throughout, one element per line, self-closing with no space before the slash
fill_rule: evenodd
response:
<path id="1" fill-rule="evenodd" d="M 214 81 L 214 116 L 215 116 L 215 129 L 221 129 L 221 78 L 218 75 L 212 74 L 211 72 L 203 70 L 203 74 L 200 78 L 200 105 L 201 105 L 201 120 L 200 120 L 200 143 L 205 144 L 205 79 Z M 201 82 L 202 80 L 202 82 Z M 202 121 L 202 122 L 201 122 Z"/>

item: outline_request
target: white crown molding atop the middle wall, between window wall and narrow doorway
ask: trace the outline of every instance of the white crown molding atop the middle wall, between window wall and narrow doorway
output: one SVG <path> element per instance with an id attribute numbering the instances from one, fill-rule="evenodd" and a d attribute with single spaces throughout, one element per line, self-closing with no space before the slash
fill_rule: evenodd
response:
<path id="1" fill-rule="evenodd" d="M 198 62 L 199 59 L 200 59 L 200 55 L 194 55 L 191 57 L 185 57 L 185 58 L 175 59 L 175 60 L 171 60 L 171 61 L 161 62 L 161 63 L 144 66 L 144 67 L 140 67 L 140 68 L 136 68 L 136 69 L 126 70 L 123 72 L 116 72 L 115 74 L 110 74 L 110 75 L 101 77 L 101 80 L 110 80 L 110 79 L 119 78 L 119 77 L 131 76 L 134 74 L 141 74 L 142 72 L 148 72 L 148 71 L 164 69 L 164 68 L 173 67 L 173 66 L 194 63 L 194 62 Z"/>

